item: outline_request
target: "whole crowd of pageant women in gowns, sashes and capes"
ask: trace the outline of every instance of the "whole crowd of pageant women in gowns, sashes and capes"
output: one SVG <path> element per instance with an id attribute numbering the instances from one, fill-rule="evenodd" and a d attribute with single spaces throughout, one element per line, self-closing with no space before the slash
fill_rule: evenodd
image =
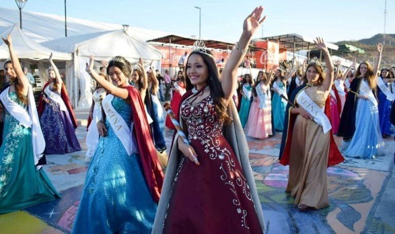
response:
<path id="1" fill-rule="evenodd" d="M 221 71 L 200 40 L 180 59 L 175 79 L 142 59 L 133 67 L 122 56 L 102 61 L 96 72 L 90 57 L 90 163 L 73 233 L 262 233 L 246 135 L 266 139 L 282 132 L 279 162 L 290 166 L 285 191 L 300 211 L 329 205 L 327 167 L 343 162 L 343 155 L 372 159 L 380 154 L 395 119 L 395 71 L 383 68 L 377 76 L 382 45 L 374 67 L 363 62 L 355 69 L 354 63 L 342 71 L 318 37 L 315 45 L 326 69 L 317 60 L 305 61 L 259 71 L 257 77 L 247 73 L 238 82 L 239 65 L 252 67 L 245 54 L 265 19 L 262 12 L 257 7 L 246 17 Z M 11 60 L 4 66 L 10 82 L 0 94 L 0 213 L 8 213 L 60 199 L 42 169 L 43 154 L 81 147 L 52 56 L 36 109 L 30 76 L 12 38 L 3 40 Z M 169 115 L 165 121 L 164 101 L 170 101 L 175 122 Z M 176 129 L 168 150 L 165 126 Z M 336 134 L 344 138 L 343 155 Z"/>

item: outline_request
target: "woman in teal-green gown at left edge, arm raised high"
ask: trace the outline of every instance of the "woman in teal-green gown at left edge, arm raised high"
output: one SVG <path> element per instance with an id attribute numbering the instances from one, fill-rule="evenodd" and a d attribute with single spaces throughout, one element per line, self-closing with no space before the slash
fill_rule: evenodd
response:
<path id="1" fill-rule="evenodd" d="M 28 112 L 35 112 L 37 115 L 34 101 L 30 100 L 33 105 L 28 105 L 28 99 L 31 96 L 27 94 L 32 91 L 21 64 L 14 54 L 11 36 L 8 35 L 7 39 L 3 40 L 10 50 L 11 62 L 6 62 L 4 68 L 11 85 L 3 91 L 7 93 L 2 93 L 2 95 L 5 97 L 8 95 L 12 102 L 23 109 L 27 106 L 34 108 Z M 32 127 L 25 127 L 15 119 L 7 110 L 7 106 L 2 106 L 1 115 L 4 129 L 3 144 L 0 147 L 0 213 L 8 213 L 60 198 L 44 170 L 38 165 L 43 161 L 35 162 L 35 154 L 39 149 L 36 147 L 33 150 Z M 38 116 L 35 117 L 38 120 Z M 30 115 L 30 118 L 33 119 L 33 116 Z M 40 127 L 40 123 L 37 123 Z M 41 129 L 39 131 L 41 132 Z M 39 144 L 44 145 L 42 153 L 45 142 Z"/>

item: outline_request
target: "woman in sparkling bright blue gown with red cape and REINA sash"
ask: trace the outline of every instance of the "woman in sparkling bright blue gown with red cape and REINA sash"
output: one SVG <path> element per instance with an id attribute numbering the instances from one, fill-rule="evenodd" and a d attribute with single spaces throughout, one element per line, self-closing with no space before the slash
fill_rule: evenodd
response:
<path id="1" fill-rule="evenodd" d="M 130 64 L 120 56 L 110 61 L 107 72 L 114 85 L 93 71 L 93 56 L 86 70 L 110 95 L 102 102 L 105 121 L 98 123 L 101 137 L 86 174 L 73 233 L 151 233 L 163 172 L 143 97 L 127 85 Z M 142 86 L 147 89 L 147 80 Z"/>

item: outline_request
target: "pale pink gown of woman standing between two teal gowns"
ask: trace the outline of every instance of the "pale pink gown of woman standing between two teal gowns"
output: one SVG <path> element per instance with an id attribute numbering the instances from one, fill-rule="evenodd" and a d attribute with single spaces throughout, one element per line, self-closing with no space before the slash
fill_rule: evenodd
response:
<path id="1" fill-rule="evenodd" d="M 272 101 L 268 86 L 260 84 L 262 91 L 266 94 L 266 107 L 259 108 L 259 97 L 254 97 L 254 101 L 249 108 L 248 120 L 245 125 L 246 135 L 253 138 L 265 139 L 272 135 Z"/>

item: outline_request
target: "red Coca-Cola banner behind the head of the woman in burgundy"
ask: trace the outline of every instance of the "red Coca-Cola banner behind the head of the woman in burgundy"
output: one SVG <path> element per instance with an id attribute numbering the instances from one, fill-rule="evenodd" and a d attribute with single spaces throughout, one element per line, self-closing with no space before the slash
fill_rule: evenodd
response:
<path id="1" fill-rule="evenodd" d="M 171 50 L 169 46 L 154 45 L 154 47 L 162 53 L 162 60 L 161 60 L 162 67 L 178 66 L 178 61 L 181 58 L 181 56 L 184 55 L 185 51 L 187 51 L 188 54 L 192 51 L 191 48 L 182 48 L 175 46 L 174 47 L 172 46 Z M 222 62 L 224 63 L 226 62 L 228 53 L 226 53 L 226 51 L 211 51 L 211 52 L 214 55 L 214 60 L 216 60 L 217 65 L 221 67 L 223 64 Z"/>

